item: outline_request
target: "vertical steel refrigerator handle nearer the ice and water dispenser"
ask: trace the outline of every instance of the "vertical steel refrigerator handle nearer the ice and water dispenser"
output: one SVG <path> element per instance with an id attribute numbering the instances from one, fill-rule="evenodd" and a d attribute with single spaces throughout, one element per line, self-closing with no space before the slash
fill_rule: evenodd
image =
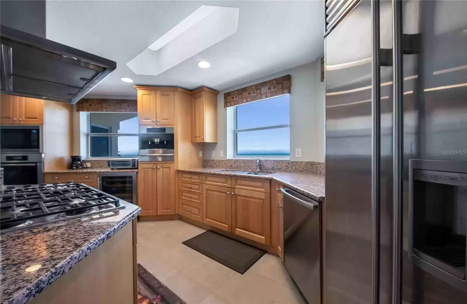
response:
<path id="1" fill-rule="evenodd" d="M 393 24 L 393 215 L 392 303 L 401 303 L 402 284 L 402 170 L 403 170 L 403 38 L 402 1 L 392 1 Z"/>

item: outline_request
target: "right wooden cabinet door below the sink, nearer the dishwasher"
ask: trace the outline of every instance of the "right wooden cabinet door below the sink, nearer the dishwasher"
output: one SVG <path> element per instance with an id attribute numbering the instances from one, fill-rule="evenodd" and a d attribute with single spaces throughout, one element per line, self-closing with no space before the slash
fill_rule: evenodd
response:
<path id="1" fill-rule="evenodd" d="M 271 244 L 269 193 L 234 189 L 232 232 L 264 245 Z"/>

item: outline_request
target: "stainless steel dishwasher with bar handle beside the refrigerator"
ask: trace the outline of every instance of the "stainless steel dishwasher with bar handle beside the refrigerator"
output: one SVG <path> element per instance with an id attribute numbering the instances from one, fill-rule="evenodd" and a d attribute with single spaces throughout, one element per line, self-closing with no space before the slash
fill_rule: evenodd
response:
<path id="1" fill-rule="evenodd" d="M 321 206 L 289 188 L 283 193 L 284 266 L 309 304 L 321 302 Z"/>

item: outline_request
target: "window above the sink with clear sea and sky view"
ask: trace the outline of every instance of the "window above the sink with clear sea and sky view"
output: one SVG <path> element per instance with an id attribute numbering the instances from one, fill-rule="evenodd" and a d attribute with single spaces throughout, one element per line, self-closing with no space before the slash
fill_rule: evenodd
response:
<path id="1" fill-rule="evenodd" d="M 235 156 L 290 157 L 289 94 L 235 106 Z"/>

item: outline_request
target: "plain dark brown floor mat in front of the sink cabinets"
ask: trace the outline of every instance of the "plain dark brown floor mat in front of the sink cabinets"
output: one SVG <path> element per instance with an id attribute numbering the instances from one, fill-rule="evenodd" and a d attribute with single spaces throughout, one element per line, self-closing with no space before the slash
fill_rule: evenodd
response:
<path id="1" fill-rule="evenodd" d="M 187 239 L 182 244 L 241 274 L 244 274 L 266 253 L 264 250 L 210 230 Z"/>

